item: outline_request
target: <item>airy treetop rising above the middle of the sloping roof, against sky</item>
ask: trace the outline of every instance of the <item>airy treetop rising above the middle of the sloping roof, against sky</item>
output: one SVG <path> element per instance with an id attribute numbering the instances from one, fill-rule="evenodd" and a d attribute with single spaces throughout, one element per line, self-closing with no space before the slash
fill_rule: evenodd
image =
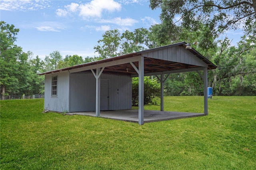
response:
<path id="1" fill-rule="evenodd" d="M 108 30 L 102 35 L 103 39 L 98 40 L 100 45 L 94 46 L 95 52 L 103 59 L 119 55 L 120 33 L 117 29 Z"/>

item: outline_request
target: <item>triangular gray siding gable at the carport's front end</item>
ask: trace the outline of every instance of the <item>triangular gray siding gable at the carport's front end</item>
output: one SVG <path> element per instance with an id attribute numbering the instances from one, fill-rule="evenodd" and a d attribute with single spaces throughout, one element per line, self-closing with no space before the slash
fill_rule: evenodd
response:
<path id="1" fill-rule="evenodd" d="M 185 63 L 190 65 L 198 65 L 201 67 L 207 67 L 208 65 L 198 57 L 193 55 L 190 51 L 183 47 L 174 46 L 168 47 L 168 49 L 158 49 L 156 51 L 150 51 L 142 53 L 143 57 L 151 57 L 155 59 L 165 59 L 168 61 L 174 61 L 179 63 Z"/>

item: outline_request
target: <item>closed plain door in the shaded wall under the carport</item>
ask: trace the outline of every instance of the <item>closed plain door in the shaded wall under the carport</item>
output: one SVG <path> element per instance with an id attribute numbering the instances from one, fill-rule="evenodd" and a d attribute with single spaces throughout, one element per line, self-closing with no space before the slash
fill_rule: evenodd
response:
<path id="1" fill-rule="evenodd" d="M 100 110 L 108 110 L 108 101 L 109 101 L 109 80 L 100 79 Z"/>

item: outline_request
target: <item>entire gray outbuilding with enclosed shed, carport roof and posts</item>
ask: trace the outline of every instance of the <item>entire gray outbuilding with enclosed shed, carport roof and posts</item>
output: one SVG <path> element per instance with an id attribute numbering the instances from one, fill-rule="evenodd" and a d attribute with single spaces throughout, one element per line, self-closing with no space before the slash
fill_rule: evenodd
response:
<path id="1" fill-rule="evenodd" d="M 156 75 L 161 83 L 164 110 L 164 75 L 196 71 L 204 79 L 204 113 L 208 114 L 207 72 L 216 69 L 186 42 L 120 55 L 39 73 L 45 75 L 44 110 L 84 112 L 132 108 L 132 77 L 139 77 L 138 123 L 144 123 L 144 76 Z M 201 74 L 199 71 L 203 71 Z"/>

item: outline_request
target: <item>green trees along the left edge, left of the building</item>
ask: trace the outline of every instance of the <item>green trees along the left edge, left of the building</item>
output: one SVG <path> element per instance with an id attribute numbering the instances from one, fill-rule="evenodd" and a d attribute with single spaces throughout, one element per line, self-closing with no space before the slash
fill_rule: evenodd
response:
<path id="1" fill-rule="evenodd" d="M 37 76 L 36 73 L 44 71 L 44 62 L 38 56 L 31 59 L 31 51 L 25 53 L 21 47 L 15 45 L 18 32 L 19 29 L 14 25 L 1 21 L 1 94 L 42 94 L 44 77 Z"/>

